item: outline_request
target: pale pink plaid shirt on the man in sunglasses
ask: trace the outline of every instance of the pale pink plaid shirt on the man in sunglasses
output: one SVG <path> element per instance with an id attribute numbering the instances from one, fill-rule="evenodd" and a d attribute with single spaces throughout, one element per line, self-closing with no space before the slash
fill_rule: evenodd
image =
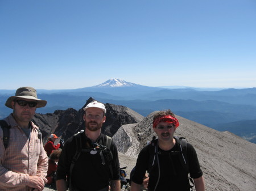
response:
<path id="1" fill-rule="evenodd" d="M 30 139 L 16 124 L 13 115 L 4 119 L 10 128 L 9 145 L 3 146 L 0 128 L 0 190 L 27 191 L 29 176 L 36 175 L 47 182 L 48 157 L 43 143 L 38 139 L 38 127 L 31 122 Z"/>

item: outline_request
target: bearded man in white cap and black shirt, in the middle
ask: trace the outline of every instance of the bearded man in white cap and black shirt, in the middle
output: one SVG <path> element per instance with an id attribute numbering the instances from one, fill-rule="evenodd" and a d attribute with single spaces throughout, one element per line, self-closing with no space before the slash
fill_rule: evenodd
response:
<path id="1" fill-rule="evenodd" d="M 84 133 L 69 138 L 57 167 L 57 190 L 119 191 L 119 160 L 112 138 L 101 134 L 105 105 L 92 101 L 84 108 Z M 67 178 L 66 178 L 67 177 Z M 68 187 L 67 187 L 67 181 Z"/>

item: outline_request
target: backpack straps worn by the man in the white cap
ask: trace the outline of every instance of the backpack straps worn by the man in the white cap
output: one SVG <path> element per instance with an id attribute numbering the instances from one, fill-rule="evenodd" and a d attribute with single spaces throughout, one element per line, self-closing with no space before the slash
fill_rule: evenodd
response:
<path id="1" fill-rule="evenodd" d="M 69 175 L 71 175 L 72 171 L 73 171 L 73 167 L 76 164 L 77 159 L 79 158 L 81 152 L 90 152 L 90 151 L 95 151 L 95 152 L 99 152 L 100 156 L 101 156 L 101 161 L 103 165 L 106 165 L 105 159 L 104 159 L 104 152 L 109 152 L 110 153 L 110 159 L 109 159 L 109 169 L 110 169 L 110 178 L 113 179 L 113 169 L 112 169 L 112 164 L 111 161 L 113 159 L 113 155 L 112 152 L 110 150 L 110 146 L 112 143 L 112 138 L 109 137 L 108 135 L 104 135 L 106 138 L 106 142 L 105 142 L 105 146 L 104 145 L 98 145 L 99 148 L 94 148 L 94 150 L 90 149 L 90 148 L 82 148 L 82 138 L 81 138 L 81 133 L 77 133 L 75 135 L 73 135 L 73 138 L 76 140 L 76 153 L 72 158 L 72 162 L 69 168 Z M 69 188 L 72 188 L 72 184 L 71 184 L 71 176 L 69 176 Z"/>

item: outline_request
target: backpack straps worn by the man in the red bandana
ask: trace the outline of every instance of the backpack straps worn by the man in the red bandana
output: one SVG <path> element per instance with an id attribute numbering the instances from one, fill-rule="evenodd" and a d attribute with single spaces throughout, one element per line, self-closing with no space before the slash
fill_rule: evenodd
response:
<path id="1" fill-rule="evenodd" d="M 177 154 L 180 160 L 180 163 L 182 167 L 189 173 L 189 165 L 188 165 L 188 158 L 187 158 L 187 140 L 184 137 L 177 137 L 174 136 L 174 138 L 177 141 L 177 144 L 180 146 L 180 151 L 181 154 Z M 155 136 L 152 138 L 152 141 L 149 143 L 150 146 L 148 148 L 150 152 L 150 158 L 148 160 L 148 173 L 150 174 L 151 169 L 156 165 L 156 160 L 158 160 L 158 139 L 155 138 Z M 160 177 L 159 177 L 160 178 Z M 193 182 L 193 179 L 189 176 L 188 177 L 189 181 L 191 181 L 192 185 L 190 185 L 190 189 L 192 190 L 193 186 L 195 185 Z M 157 182 L 158 184 L 158 182 Z M 157 186 L 156 184 L 156 186 Z M 155 186 L 155 189 L 156 189 Z"/>

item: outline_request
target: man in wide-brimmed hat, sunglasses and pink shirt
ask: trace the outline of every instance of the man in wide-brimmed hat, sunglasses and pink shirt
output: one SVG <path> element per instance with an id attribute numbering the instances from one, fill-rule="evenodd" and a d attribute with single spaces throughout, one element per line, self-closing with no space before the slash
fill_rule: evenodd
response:
<path id="1" fill-rule="evenodd" d="M 48 157 L 44 151 L 42 134 L 31 122 L 36 108 L 46 100 L 37 98 L 32 87 L 21 87 L 5 105 L 13 109 L 0 128 L 0 190 L 43 190 L 47 182 Z"/>

